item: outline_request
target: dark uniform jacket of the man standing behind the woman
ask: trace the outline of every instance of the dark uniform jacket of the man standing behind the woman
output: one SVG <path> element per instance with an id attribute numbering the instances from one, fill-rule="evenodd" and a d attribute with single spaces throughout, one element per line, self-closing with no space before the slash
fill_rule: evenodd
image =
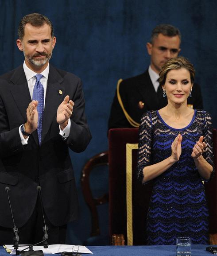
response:
<path id="1" fill-rule="evenodd" d="M 159 88 L 159 92 L 155 92 L 148 70 L 136 77 L 123 80 L 120 83 L 120 96 L 124 108 L 137 123 L 140 123 L 144 112 L 158 110 L 167 105 L 167 97 L 163 97 L 163 89 Z M 142 109 L 139 102 L 144 103 Z M 192 97 L 188 97 L 187 104 L 193 105 L 194 109 L 203 109 L 201 89 L 196 83 L 193 85 Z M 133 128 L 120 107 L 117 92 L 109 116 L 109 129 L 111 128 Z"/>

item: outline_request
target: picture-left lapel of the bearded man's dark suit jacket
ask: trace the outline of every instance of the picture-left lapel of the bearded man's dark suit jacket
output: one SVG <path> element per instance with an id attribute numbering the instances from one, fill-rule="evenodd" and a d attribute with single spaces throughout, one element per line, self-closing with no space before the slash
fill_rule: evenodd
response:
<path id="1" fill-rule="evenodd" d="M 23 70 L 23 66 L 19 66 L 15 69 L 14 74 L 11 77 L 11 83 L 13 86 L 11 87 L 12 97 L 19 109 L 19 112 L 23 116 L 23 124 L 27 121 L 27 108 L 29 103 L 31 102 L 31 96 L 29 93 L 29 88 L 27 84 L 26 75 Z M 35 142 L 38 144 L 38 134 L 37 131 L 32 133 L 32 137 Z"/>

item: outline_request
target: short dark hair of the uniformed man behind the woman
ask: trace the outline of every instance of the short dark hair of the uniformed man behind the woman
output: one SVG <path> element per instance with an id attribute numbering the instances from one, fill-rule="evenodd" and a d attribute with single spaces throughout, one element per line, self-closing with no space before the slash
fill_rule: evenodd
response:
<path id="1" fill-rule="evenodd" d="M 151 44 L 153 43 L 154 39 L 159 34 L 163 34 L 165 36 L 170 36 L 170 37 L 178 35 L 178 37 L 181 41 L 181 33 L 180 33 L 179 29 L 170 24 L 160 24 L 152 30 L 151 42 L 150 42 Z"/>

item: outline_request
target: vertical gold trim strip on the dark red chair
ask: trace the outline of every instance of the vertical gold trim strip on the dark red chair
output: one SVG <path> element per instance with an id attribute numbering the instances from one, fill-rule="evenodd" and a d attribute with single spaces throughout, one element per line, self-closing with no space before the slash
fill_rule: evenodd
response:
<path id="1" fill-rule="evenodd" d="M 138 149 L 138 143 L 126 144 L 126 201 L 127 201 L 128 245 L 133 245 L 133 229 L 132 229 L 132 150 L 133 149 Z"/>

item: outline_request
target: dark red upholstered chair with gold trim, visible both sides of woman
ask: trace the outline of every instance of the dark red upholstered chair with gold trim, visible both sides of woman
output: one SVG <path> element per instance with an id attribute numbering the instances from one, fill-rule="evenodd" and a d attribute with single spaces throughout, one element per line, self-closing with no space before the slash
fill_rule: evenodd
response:
<path id="1" fill-rule="evenodd" d="M 152 183 L 143 186 L 138 181 L 136 177 L 137 150 L 132 149 L 131 154 L 126 155 L 126 144 L 138 144 L 138 128 L 109 131 L 109 233 L 110 237 L 112 234 L 124 234 L 125 244 L 141 245 L 146 241 L 146 216 Z M 217 167 L 216 129 L 213 129 L 213 148 Z M 126 159 L 132 160 L 131 167 L 126 166 Z M 126 182 L 129 176 L 127 169 L 132 172 L 130 190 Z M 205 186 L 210 211 L 209 232 L 217 233 L 217 175 Z M 129 194 L 129 191 L 132 194 Z M 129 202 L 127 203 L 126 198 L 129 196 L 132 199 L 132 207 L 129 207 Z M 132 212 L 128 214 L 130 211 Z"/>

